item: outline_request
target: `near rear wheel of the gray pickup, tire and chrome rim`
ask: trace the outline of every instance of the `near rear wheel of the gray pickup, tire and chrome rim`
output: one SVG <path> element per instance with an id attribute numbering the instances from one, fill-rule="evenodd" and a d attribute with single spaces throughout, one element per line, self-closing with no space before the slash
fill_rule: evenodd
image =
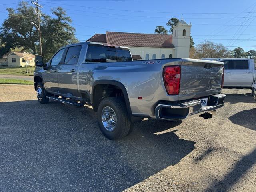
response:
<path id="1" fill-rule="evenodd" d="M 102 134 L 110 140 L 125 137 L 131 127 L 125 103 L 115 97 L 103 99 L 98 107 L 98 124 Z"/>

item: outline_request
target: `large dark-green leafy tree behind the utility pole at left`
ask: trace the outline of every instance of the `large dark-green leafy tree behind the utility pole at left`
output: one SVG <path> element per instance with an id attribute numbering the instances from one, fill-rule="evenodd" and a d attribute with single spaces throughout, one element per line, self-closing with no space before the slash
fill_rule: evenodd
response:
<path id="1" fill-rule="evenodd" d="M 37 24 L 33 15 L 33 7 L 28 2 L 18 4 L 16 10 L 7 8 L 8 18 L 0 28 L 0 57 L 11 49 L 22 48 L 33 54 L 39 53 L 38 30 L 31 24 Z M 60 7 L 52 9 L 54 18 L 47 14 L 41 17 L 42 52 L 47 60 L 60 47 L 78 42 L 75 38 L 75 29 L 70 26 L 72 20 L 66 11 Z"/>

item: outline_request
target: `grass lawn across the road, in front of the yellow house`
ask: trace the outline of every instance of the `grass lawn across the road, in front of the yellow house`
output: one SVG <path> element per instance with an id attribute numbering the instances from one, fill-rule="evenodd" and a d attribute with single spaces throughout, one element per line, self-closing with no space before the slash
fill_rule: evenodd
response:
<path id="1" fill-rule="evenodd" d="M 28 66 L 28 74 L 26 67 L 0 67 L 0 74 L 1 75 L 33 75 L 35 67 L 30 67 L 31 73 Z"/>

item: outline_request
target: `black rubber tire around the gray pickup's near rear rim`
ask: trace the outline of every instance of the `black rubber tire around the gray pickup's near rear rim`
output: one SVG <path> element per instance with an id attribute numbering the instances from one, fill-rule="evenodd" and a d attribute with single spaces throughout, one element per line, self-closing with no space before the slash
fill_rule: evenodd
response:
<path id="1" fill-rule="evenodd" d="M 105 128 L 102 122 L 102 112 L 108 107 L 114 111 L 116 125 L 113 130 Z M 120 98 L 109 97 L 103 99 L 98 107 L 98 124 L 104 136 L 110 140 L 118 140 L 125 137 L 131 127 L 131 122 L 127 114 L 126 105 Z"/>

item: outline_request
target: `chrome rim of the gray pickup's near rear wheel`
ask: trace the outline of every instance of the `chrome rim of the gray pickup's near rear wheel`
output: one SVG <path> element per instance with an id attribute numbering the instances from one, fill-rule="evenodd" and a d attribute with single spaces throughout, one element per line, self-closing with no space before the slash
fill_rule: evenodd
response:
<path id="1" fill-rule="evenodd" d="M 108 131 L 113 131 L 116 128 L 116 113 L 111 107 L 104 107 L 101 113 L 102 124 Z"/>

